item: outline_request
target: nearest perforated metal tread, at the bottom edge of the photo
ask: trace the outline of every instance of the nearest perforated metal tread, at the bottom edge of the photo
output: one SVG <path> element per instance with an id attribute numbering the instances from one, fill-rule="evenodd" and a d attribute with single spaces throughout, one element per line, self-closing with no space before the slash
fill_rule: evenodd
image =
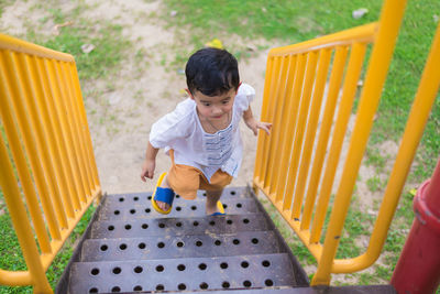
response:
<path id="1" fill-rule="evenodd" d="M 84 262 L 72 270 L 70 293 L 233 290 L 294 286 L 282 254 L 148 261 Z"/>

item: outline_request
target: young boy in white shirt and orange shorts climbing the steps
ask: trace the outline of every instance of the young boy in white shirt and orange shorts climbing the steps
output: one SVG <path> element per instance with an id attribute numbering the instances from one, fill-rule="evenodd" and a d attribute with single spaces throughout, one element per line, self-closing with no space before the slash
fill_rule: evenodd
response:
<path id="1" fill-rule="evenodd" d="M 221 193 L 241 165 L 241 118 L 255 135 L 258 129 L 268 134 L 272 124 L 254 119 L 250 102 L 255 90 L 240 83 L 237 59 L 229 52 L 199 50 L 185 74 L 189 98 L 153 124 L 141 179 L 153 178 L 158 149 L 164 148 L 172 167 L 157 181 L 153 207 L 168 214 L 175 194 L 195 199 L 197 190 L 205 189 L 206 214 L 221 215 Z"/>

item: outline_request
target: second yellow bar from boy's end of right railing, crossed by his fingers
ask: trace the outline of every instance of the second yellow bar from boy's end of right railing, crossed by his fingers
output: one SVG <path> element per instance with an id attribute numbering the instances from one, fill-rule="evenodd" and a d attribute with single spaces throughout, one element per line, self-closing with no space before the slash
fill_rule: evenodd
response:
<path id="1" fill-rule="evenodd" d="M 274 96 L 274 92 L 276 90 L 275 85 L 278 83 L 278 75 L 279 75 L 279 67 L 280 67 L 280 57 L 275 58 L 274 61 L 275 67 L 274 70 L 272 72 L 272 77 L 271 77 L 271 87 L 270 87 L 270 94 L 268 94 L 268 106 L 267 106 L 267 122 L 273 122 L 274 120 L 274 112 L 275 112 L 275 105 L 276 105 L 276 97 Z M 264 140 L 263 144 L 263 164 L 262 164 L 262 174 L 260 178 L 263 182 L 263 187 L 266 188 L 266 178 L 267 178 L 267 167 L 271 161 L 271 142 L 273 141 L 271 137 L 266 137 L 266 140 Z"/>

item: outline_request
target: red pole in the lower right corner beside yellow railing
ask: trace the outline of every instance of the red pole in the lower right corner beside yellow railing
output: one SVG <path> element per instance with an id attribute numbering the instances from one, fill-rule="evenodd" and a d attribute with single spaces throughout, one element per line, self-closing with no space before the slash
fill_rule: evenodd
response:
<path id="1" fill-rule="evenodd" d="M 399 294 L 435 293 L 440 283 L 440 161 L 414 199 L 416 218 L 391 283 Z"/>

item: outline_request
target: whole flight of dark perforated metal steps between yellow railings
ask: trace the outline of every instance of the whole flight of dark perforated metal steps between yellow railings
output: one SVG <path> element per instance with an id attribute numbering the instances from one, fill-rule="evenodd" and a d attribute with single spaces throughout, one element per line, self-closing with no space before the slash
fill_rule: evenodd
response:
<path id="1" fill-rule="evenodd" d="M 308 277 L 250 188 L 224 189 L 226 216 L 204 193 L 163 216 L 151 193 L 107 195 L 57 293 L 197 292 L 308 286 Z"/>

